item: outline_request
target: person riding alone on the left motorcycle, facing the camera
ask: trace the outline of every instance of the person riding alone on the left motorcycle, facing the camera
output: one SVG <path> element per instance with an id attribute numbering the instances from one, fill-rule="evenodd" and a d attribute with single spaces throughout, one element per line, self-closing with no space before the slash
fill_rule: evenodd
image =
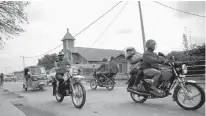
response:
<path id="1" fill-rule="evenodd" d="M 63 76 L 64 73 L 67 71 L 67 66 L 70 66 L 70 62 L 67 60 L 67 58 L 64 56 L 63 51 L 61 51 L 58 55 L 58 60 L 55 62 L 55 67 L 58 67 L 56 69 L 56 79 L 59 81 L 59 87 L 58 87 L 58 92 L 63 93 Z M 53 82 L 53 95 L 55 94 L 56 90 L 56 81 Z"/>

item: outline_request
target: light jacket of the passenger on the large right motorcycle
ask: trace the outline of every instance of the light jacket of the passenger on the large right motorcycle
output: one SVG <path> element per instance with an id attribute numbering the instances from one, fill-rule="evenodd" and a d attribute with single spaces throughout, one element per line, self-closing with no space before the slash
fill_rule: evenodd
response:
<path id="1" fill-rule="evenodd" d="M 130 71 L 133 69 L 140 69 L 142 65 L 142 55 L 135 53 L 134 55 L 127 58 L 127 61 L 130 66 Z"/>

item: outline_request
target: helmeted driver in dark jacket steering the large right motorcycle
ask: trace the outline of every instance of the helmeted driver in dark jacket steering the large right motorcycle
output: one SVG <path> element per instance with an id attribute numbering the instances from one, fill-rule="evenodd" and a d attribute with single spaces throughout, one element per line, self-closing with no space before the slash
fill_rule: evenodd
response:
<path id="1" fill-rule="evenodd" d="M 154 76 L 151 89 L 153 89 L 152 92 L 155 95 L 159 96 L 161 95 L 161 91 L 156 87 L 158 85 L 161 72 L 158 69 L 159 64 L 163 64 L 166 61 L 164 61 L 154 52 L 156 49 L 156 42 L 154 40 L 148 40 L 146 42 L 146 48 L 147 50 L 143 54 L 143 71 L 147 76 Z"/>

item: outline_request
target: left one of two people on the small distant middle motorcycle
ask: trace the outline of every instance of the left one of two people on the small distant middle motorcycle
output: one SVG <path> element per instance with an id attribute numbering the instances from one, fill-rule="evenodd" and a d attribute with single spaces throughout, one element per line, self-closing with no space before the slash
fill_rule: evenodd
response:
<path id="1" fill-rule="evenodd" d="M 110 74 L 110 65 L 109 65 L 108 59 L 103 58 L 101 65 L 96 70 L 96 75 L 97 75 L 98 80 L 104 81 L 105 78 L 102 75 L 106 76 L 108 74 Z"/>

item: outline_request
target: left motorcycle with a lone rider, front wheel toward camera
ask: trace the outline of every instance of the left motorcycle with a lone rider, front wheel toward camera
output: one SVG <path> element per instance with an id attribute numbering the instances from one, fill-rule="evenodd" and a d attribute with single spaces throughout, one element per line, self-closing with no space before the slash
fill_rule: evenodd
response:
<path id="1" fill-rule="evenodd" d="M 79 75 L 79 71 L 77 68 L 71 66 L 64 73 L 63 79 L 63 92 L 59 93 L 58 83 L 56 86 L 55 97 L 58 102 L 62 102 L 64 97 L 71 96 L 72 102 L 76 108 L 82 108 L 86 101 L 86 90 L 83 84 L 81 83 L 81 79 L 83 76 Z"/>

